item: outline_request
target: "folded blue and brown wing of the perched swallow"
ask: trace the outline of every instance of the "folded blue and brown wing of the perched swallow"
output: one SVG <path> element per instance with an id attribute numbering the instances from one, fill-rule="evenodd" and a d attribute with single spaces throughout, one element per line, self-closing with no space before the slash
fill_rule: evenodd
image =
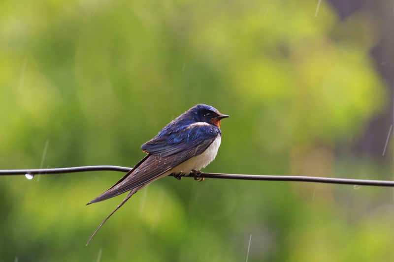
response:
<path id="1" fill-rule="evenodd" d="M 220 135 L 213 125 L 189 125 L 176 130 L 163 130 L 141 146 L 148 155 L 107 191 L 89 204 L 100 202 L 133 188 L 142 188 L 191 157 L 204 152 Z"/>

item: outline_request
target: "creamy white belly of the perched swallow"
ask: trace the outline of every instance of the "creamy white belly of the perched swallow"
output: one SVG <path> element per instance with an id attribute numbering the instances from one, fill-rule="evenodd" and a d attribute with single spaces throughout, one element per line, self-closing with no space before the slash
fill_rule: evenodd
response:
<path id="1" fill-rule="evenodd" d="M 167 172 L 164 175 L 169 175 L 171 173 L 175 174 L 186 174 L 189 175 L 192 170 L 199 171 L 200 169 L 206 167 L 209 163 L 211 163 L 218 153 L 218 149 L 220 146 L 221 136 L 218 135 L 213 143 L 204 151 L 202 154 L 197 155 L 195 157 L 186 160 L 182 164 L 174 167 L 171 171 Z"/>

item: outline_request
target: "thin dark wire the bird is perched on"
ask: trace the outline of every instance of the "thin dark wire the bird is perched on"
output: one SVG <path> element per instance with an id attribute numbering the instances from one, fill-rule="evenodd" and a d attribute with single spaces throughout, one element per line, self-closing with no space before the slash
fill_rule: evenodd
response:
<path id="1" fill-rule="evenodd" d="M 76 172 L 91 172 L 91 171 L 129 172 L 130 170 L 131 168 L 119 167 L 119 166 L 86 166 L 86 167 L 72 167 L 72 168 L 0 170 L 0 175 L 27 175 L 27 174 L 52 175 L 52 174 L 65 174 L 65 173 L 76 173 Z M 394 187 L 394 181 L 329 178 L 329 177 L 316 177 L 316 176 L 238 175 L 238 174 L 220 174 L 220 173 L 201 173 L 198 176 L 203 178 L 221 178 L 221 179 L 238 179 L 238 180 L 298 181 L 298 182 L 315 182 L 315 183 L 328 183 L 328 184 Z M 189 175 L 189 177 L 193 177 L 193 175 Z"/>

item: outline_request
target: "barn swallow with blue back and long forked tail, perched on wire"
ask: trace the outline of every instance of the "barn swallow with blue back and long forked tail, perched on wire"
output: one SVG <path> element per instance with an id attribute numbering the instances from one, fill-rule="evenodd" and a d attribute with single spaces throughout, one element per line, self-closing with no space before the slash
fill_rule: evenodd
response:
<path id="1" fill-rule="evenodd" d="M 88 203 L 93 204 L 130 191 L 99 225 L 86 245 L 116 210 L 138 190 L 156 179 L 171 174 L 180 179 L 193 173 L 195 179 L 200 180 L 199 170 L 216 157 L 222 138 L 220 121 L 226 117 L 229 116 L 211 106 L 199 104 L 172 120 L 156 137 L 143 144 L 141 149 L 147 155 L 115 185 Z"/>

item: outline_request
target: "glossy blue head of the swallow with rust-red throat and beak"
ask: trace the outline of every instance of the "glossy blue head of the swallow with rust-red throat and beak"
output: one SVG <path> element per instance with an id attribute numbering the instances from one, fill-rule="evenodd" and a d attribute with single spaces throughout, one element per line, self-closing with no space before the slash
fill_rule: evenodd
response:
<path id="1" fill-rule="evenodd" d="M 217 127 L 220 127 L 220 121 L 223 118 L 230 117 L 221 114 L 214 107 L 204 104 L 192 107 L 189 109 L 188 113 L 190 113 L 197 122 L 206 122 L 208 124 L 214 124 Z"/>

